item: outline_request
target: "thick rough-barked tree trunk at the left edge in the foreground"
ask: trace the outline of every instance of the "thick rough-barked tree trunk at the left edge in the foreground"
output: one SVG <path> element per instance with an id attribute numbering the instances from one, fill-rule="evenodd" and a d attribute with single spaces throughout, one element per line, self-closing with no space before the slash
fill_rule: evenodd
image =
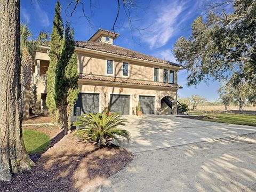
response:
<path id="1" fill-rule="evenodd" d="M 22 139 L 20 82 L 20 1 L 0 1 L 0 180 L 29 170 Z"/>

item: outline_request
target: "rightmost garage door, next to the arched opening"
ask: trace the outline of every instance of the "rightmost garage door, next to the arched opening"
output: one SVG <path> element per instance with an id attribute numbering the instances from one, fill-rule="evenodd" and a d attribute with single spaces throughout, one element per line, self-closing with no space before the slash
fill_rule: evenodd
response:
<path id="1" fill-rule="evenodd" d="M 139 96 L 140 109 L 142 114 L 155 114 L 155 97 Z"/>

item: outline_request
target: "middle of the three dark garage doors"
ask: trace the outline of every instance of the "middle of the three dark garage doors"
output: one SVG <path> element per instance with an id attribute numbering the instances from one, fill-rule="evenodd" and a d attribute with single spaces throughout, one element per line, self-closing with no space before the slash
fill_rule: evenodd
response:
<path id="1" fill-rule="evenodd" d="M 110 94 L 110 110 L 111 112 L 129 115 L 130 95 Z"/>

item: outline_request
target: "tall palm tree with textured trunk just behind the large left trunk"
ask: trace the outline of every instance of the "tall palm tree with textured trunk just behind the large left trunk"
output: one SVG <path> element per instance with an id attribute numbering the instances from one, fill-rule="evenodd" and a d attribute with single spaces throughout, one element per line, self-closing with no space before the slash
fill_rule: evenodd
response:
<path id="1" fill-rule="evenodd" d="M 38 37 L 34 40 L 33 34 L 28 26 L 23 24 L 20 26 L 20 47 L 21 47 L 21 83 L 23 93 L 23 119 L 29 118 L 29 103 L 30 103 L 30 85 L 33 75 L 33 65 L 35 59 L 36 47 L 41 41 L 47 39 L 47 33 L 41 31 Z"/>

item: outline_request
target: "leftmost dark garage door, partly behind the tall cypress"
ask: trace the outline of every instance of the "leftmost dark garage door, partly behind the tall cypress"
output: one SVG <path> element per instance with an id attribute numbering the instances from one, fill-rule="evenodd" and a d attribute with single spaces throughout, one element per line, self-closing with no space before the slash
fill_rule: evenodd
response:
<path id="1" fill-rule="evenodd" d="M 99 98 L 100 94 L 79 93 L 74 106 L 74 116 L 99 112 Z"/>

